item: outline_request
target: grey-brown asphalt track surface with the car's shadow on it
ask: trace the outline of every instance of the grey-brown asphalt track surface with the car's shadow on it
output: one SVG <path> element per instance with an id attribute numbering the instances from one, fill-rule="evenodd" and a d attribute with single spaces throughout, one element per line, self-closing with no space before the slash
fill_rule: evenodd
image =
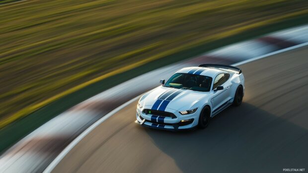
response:
<path id="1" fill-rule="evenodd" d="M 205 130 L 138 126 L 137 103 L 90 132 L 54 172 L 282 172 L 308 169 L 308 47 L 240 67 L 245 97 Z M 149 79 L 151 80 L 151 79 Z"/>

